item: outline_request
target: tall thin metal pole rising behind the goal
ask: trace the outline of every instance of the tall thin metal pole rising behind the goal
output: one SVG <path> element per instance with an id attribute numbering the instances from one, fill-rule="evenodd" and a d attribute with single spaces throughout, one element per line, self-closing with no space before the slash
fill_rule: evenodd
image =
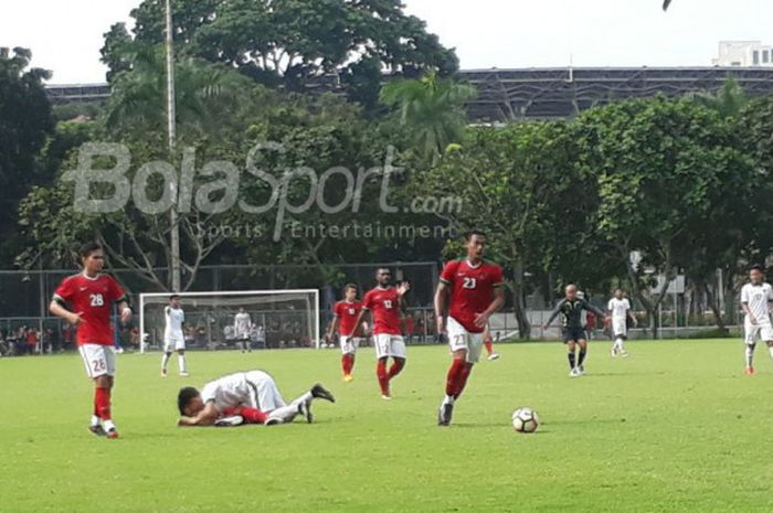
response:
<path id="1" fill-rule="evenodd" d="M 177 141 L 177 113 L 174 105 L 174 33 L 172 25 L 171 0 L 167 0 L 167 137 L 169 139 L 169 158 L 174 154 Z M 172 182 L 172 207 L 169 211 L 170 245 L 171 245 L 171 287 L 173 292 L 180 291 L 180 226 L 178 222 L 177 201 L 178 185 Z"/>

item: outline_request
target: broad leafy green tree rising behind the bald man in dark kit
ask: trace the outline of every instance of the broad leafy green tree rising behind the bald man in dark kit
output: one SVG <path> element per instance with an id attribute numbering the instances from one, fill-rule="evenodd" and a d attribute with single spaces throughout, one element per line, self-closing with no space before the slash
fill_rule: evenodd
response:
<path id="1" fill-rule="evenodd" d="M 597 177 L 599 233 L 656 333 L 655 312 L 689 259 L 688 241 L 746 161 L 726 120 L 688 99 L 612 104 L 584 113 L 574 127 L 578 165 Z M 634 252 L 644 258 L 638 265 Z M 654 293 L 647 271 L 667 278 Z"/>

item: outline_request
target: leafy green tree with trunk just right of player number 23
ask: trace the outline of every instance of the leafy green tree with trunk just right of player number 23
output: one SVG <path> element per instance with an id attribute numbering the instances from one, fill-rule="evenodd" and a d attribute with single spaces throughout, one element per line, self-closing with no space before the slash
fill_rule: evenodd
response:
<path id="1" fill-rule="evenodd" d="M 563 122 L 474 128 L 464 146 L 430 171 L 416 173 L 412 182 L 413 190 L 442 201 L 462 200 L 462 209 L 437 213 L 457 232 L 488 233 L 489 257 L 507 269 L 523 339 L 531 335 L 527 275 L 554 264 L 555 248 L 580 242 L 585 233 L 587 214 L 580 203 L 592 199 L 583 191 L 593 180 L 572 169 L 570 136 Z"/>

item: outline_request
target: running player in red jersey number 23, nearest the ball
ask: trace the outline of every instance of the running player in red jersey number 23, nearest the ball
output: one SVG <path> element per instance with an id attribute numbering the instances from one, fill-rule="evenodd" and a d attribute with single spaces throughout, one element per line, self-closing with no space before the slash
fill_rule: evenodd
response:
<path id="1" fill-rule="evenodd" d="M 454 356 L 446 377 L 438 426 L 451 424 L 454 403 L 462 395 L 473 365 L 480 359 L 488 319 L 505 302 L 501 267 L 483 259 L 486 236 L 474 231 L 465 235 L 465 242 L 467 258 L 446 264 L 435 292 L 437 332 L 446 333 L 447 330 Z"/>

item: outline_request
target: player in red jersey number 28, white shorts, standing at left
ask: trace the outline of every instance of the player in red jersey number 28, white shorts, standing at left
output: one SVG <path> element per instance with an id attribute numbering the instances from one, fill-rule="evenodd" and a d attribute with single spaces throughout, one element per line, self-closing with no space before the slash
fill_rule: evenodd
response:
<path id="1" fill-rule="evenodd" d="M 105 266 L 102 246 L 97 243 L 84 244 L 80 255 L 83 272 L 62 280 L 49 310 L 77 327 L 78 351 L 95 387 L 94 413 L 88 429 L 98 436 L 118 438 L 110 415 L 110 389 L 115 376 L 110 312 L 113 304 L 118 303 L 120 320 L 127 323 L 131 320 L 131 309 L 120 286 L 102 274 Z"/>

